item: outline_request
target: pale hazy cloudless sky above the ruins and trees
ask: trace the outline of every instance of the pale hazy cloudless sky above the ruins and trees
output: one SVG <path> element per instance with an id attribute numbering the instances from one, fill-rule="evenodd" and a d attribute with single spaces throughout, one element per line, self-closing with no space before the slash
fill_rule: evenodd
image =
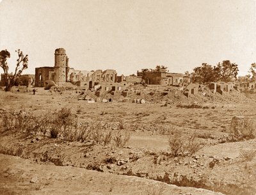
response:
<path id="1" fill-rule="evenodd" d="M 0 0 L 1 1 L 1 0 Z M 0 50 L 29 55 L 29 68 L 53 66 L 63 47 L 77 70 L 118 75 L 168 66 L 191 72 L 229 59 L 240 75 L 256 62 L 253 0 L 3 0 Z M 3 72 L 0 70 L 0 72 Z"/>

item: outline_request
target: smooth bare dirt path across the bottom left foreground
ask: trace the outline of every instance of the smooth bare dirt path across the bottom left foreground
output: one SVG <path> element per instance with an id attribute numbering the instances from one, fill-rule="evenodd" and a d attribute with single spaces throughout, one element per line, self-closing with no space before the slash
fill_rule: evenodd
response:
<path id="1" fill-rule="evenodd" d="M 177 187 L 134 176 L 111 175 L 70 166 L 36 164 L 0 154 L 0 194 L 221 194 Z"/>

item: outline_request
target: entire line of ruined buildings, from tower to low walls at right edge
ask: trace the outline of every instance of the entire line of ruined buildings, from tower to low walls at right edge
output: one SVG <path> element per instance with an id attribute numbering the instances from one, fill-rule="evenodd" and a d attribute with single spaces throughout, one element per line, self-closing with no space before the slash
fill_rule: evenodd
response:
<path id="1" fill-rule="evenodd" d="M 44 66 L 35 68 L 35 87 L 45 87 L 49 82 L 54 82 L 58 86 L 71 82 L 84 89 L 92 89 L 102 86 L 102 89 L 108 91 L 116 88 L 120 90 L 122 86 L 138 84 L 142 81 L 145 84 L 155 84 L 160 86 L 184 86 L 184 95 L 195 95 L 201 90 L 199 84 L 190 82 L 189 74 L 169 73 L 167 71 L 148 71 L 137 72 L 137 75 L 118 76 L 116 70 L 75 70 L 68 65 L 68 56 L 65 49 L 59 48 L 54 52 L 54 66 Z M 211 82 L 206 84 L 212 93 L 223 91 L 244 91 L 244 89 L 256 89 L 255 82 L 224 83 Z M 182 87 L 183 88 L 183 87 Z M 102 90 L 102 91 L 104 91 Z M 99 92 L 99 91 L 98 91 Z"/>

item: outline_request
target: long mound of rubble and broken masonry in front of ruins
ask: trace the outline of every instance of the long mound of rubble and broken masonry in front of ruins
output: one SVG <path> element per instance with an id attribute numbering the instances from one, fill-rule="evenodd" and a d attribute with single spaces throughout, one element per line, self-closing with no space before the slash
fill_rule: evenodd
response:
<path id="1" fill-rule="evenodd" d="M 222 91 L 222 95 L 218 92 L 213 93 L 212 90 L 204 86 L 202 90 L 194 94 L 189 94 L 185 87 L 178 86 L 143 86 L 137 84 L 122 88 L 122 90 L 108 90 L 104 91 L 101 88 L 96 90 L 83 89 L 81 87 L 67 84 L 65 86 L 52 86 L 49 90 L 51 93 L 59 93 L 60 95 L 72 95 L 76 93 L 77 100 L 87 100 L 89 96 L 95 102 L 102 102 L 103 99 L 108 102 L 138 102 L 141 100 L 149 104 L 198 104 L 208 103 L 230 103 L 230 102 L 255 102 L 254 98 L 249 98 L 246 93 L 232 90 L 230 92 Z M 73 97 L 72 97 L 73 99 Z M 109 101 L 111 100 L 111 101 Z"/>

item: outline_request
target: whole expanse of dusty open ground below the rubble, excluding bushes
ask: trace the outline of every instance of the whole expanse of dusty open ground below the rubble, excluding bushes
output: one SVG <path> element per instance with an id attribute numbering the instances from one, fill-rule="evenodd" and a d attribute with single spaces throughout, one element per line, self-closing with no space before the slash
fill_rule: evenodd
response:
<path id="1" fill-rule="evenodd" d="M 104 121 L 114 125 L 113 130 L 116 123 L 122 123 L 122 131 L 131 135 L 129 143 L 116 147 L 2 131 L 0 192 L 255 194 L 256 158 L 241 157 L 241 151 L 254 150 L 255 139 L 228 138 L 232 117 L 254 118 L 256 103 L 204 102 L 203 105 L 207 109 L 149 102 L 88 104 L 77 100 L 77 95 L 71 92 L 60 95 L 38 89 L 32 95 L 0 91 L 2 116 L 20 110 L 40 116 L 68 107 L 77 114 L 79 122 Z M 170 157 L 168 139 L 173 130 L 184 135 L 196 134 L 196 140 L 206 145 L 195 155 Z"/>

